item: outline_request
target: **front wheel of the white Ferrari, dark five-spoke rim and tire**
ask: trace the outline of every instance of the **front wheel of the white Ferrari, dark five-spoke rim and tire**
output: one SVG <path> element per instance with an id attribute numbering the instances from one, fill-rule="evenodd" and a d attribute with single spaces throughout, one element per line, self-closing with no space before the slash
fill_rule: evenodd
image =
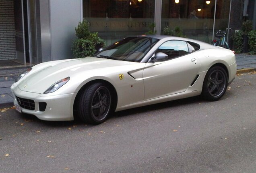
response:
<path id="1" fill-rule="evenodd" d="M 86 123 L 100 124 L 109 116 L 111 94 L 106 84 L 97 82 L 89 85 L 80 95 L 78 115 Z"/>

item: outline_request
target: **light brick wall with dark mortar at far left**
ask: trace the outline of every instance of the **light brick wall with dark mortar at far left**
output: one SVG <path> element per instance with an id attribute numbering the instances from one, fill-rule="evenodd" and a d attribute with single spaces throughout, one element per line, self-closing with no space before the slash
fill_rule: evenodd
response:
<path id="1" fill-rule="evenodd" d="M 0 0 L 0 60 L 16 59 L 13 0 Z"/>

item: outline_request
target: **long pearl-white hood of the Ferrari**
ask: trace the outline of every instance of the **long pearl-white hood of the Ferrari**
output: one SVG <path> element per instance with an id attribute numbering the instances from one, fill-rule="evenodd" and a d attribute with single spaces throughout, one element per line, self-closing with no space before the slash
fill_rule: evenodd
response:
<path id="1" fill-rule="evenodd" d="M 31 72 L 29 72 L 29 75 L 26 75 L 18 84 L 18 87 L 22 91 L 43 93 L 52 86 L 52 84 L 63 78 L 70 77 L 71 80 L 72 76 L 81 74 L 81 72 L 83 75 L 86 75 L 90 70 L 93 70 L 93 72 L 95 72 L 95 70 L 100 71 L 101 74 L 104 75 L 109 72 L 110 68 L 113 69 L 114 66 L 122 68 L 122 66 L 130 64 L 138 64 L 138 62 L 86 57 L 58 62 L 52 61 L 52 63 L 47 62 L 47 66 L 42 63 L 36 65 L 35 70 L 33 68 Z M 41 68 L 41 66 L 43 66 L 43 68 Z"/>

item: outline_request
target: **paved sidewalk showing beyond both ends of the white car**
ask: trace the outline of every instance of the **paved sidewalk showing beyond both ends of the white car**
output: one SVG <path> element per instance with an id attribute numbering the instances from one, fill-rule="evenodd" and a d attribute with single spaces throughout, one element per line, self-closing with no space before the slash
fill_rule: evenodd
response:
<path id="1" fill-rule="evenodd" d="M 237 54 L 237 73 L 256 70 L 256 55 Z M 19 73 L 25 71 L 33 64 L 19 64 L 12 60 L 0 60 L 0 109 L 13 106 L 13 96 L 10 86 L 14 83 Z"/>

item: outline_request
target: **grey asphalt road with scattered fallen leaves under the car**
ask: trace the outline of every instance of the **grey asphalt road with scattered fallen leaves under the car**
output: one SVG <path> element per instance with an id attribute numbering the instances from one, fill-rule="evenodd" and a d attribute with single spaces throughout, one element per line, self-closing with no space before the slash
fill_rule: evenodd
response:
<path id="1" fill-rule="evenodd" d="M 255 173 L 256 74 L 199 97 L 115 113 L 97 126 L 0 112 L 0 173 Z"/>

